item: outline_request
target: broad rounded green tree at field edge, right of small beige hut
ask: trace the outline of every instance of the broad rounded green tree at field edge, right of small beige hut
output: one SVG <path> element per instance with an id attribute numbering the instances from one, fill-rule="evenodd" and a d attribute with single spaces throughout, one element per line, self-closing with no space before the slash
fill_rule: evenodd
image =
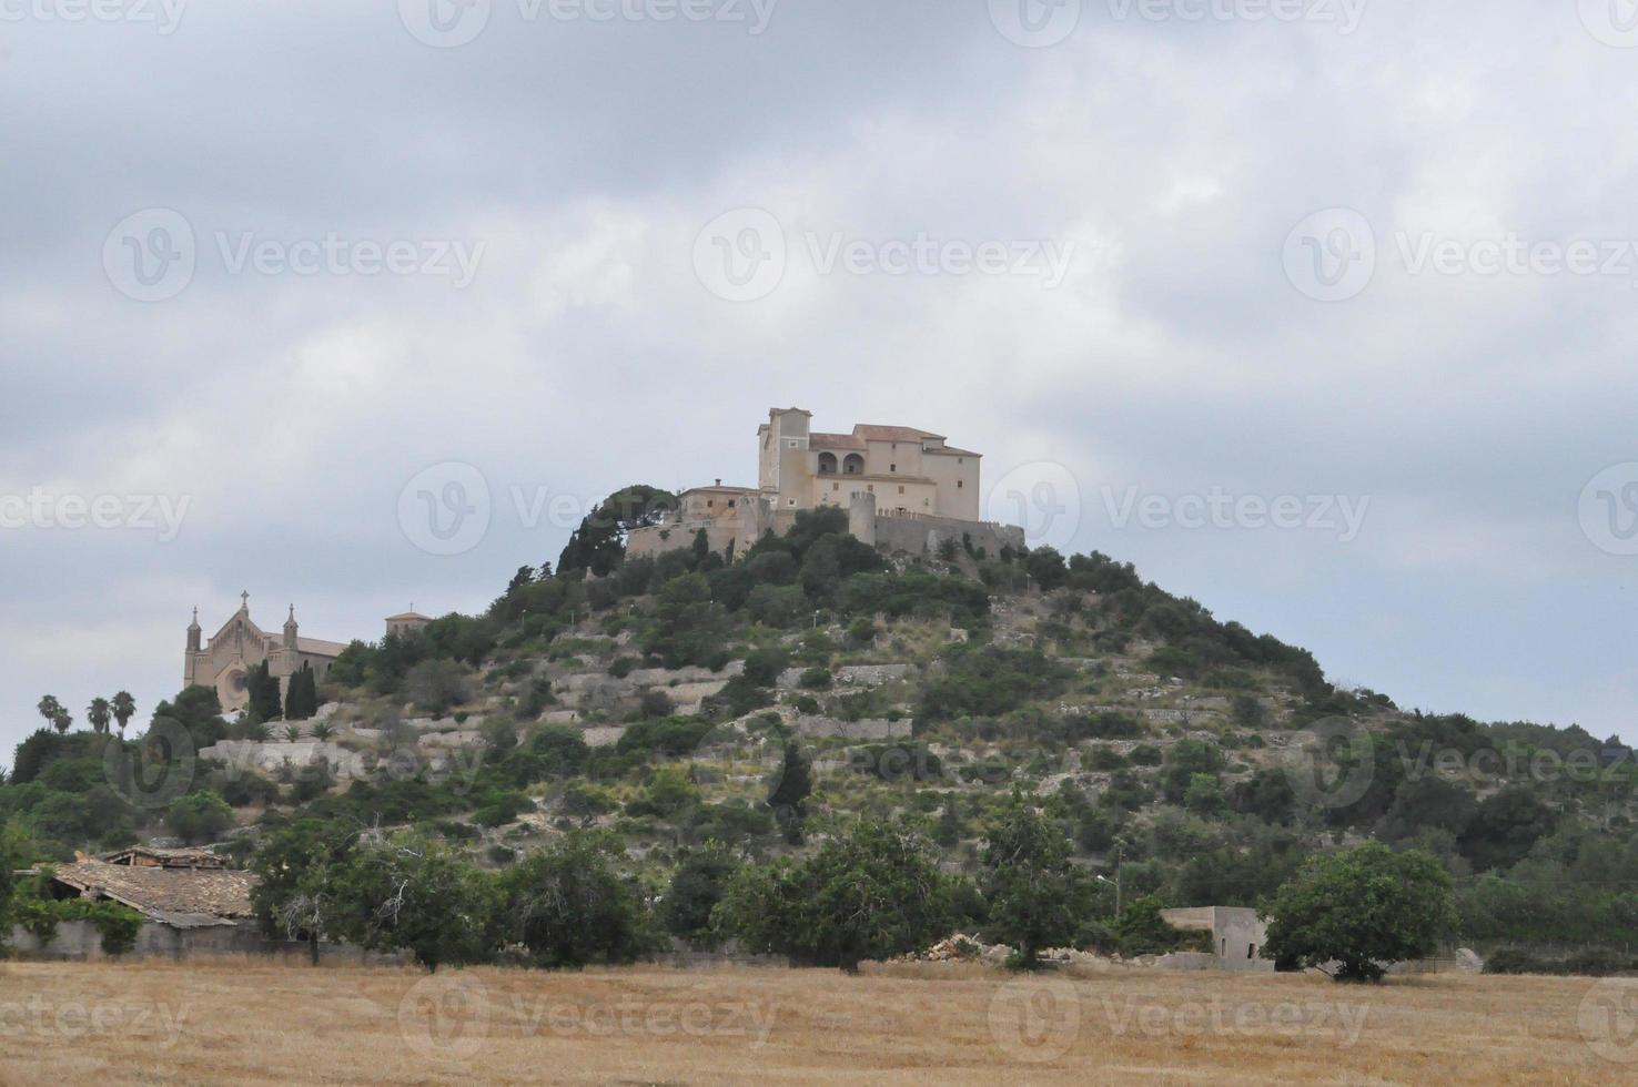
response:
<path id="1" fill-rule="evenodd" d="M 1381 981 L 1384 963 L 1433 954 L 1456 925 L 1438 859 L 1379 841 L 1310 856 L 1261 913 L 1271 917 L 1265 954 L 1299 966 L 1337 961 L 1338 981 Z"/>

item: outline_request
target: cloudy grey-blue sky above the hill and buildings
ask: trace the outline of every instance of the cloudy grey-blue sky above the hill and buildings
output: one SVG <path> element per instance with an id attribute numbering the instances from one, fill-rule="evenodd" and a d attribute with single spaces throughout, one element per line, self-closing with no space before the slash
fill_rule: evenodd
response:
<path id="1" fill-rule="evenodd" d="M 1627 7 L 0 0 L 0 751 L 146 720 L 241 591 L 480 611 L 773 406 L 1638 740 Z"/>

